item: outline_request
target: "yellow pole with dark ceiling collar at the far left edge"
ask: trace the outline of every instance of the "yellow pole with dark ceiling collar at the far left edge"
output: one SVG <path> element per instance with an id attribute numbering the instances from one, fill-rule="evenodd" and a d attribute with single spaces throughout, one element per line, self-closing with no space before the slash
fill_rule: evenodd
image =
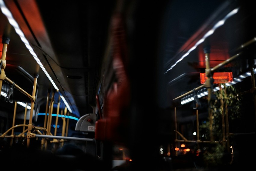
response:
<path id="1" fill-rule="evenodd" d="M 2 43 L 3 43 L 3 50 L 2 50 L 2 57 L 1 57 L 1 63 L 2 67 L 1 67 L 1 74 L 0 74 L 0 92 L 2 91 L 2 84 L 3 84 L 3 80 L 5 79 L 5 65 L 6 65 L 6 52 L 7 52 L 7 45 L 9 44 L 10 39 L 9 38 L 3 38 L 2 39 Z"/>

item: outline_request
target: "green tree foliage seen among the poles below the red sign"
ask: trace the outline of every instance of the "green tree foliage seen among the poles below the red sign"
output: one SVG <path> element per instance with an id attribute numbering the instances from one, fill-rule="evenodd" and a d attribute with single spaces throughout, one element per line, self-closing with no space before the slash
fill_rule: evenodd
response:
<path id="1" fill-rule="evenodd" d="M 221 93 L 221 94 L 220 94 Z M 221 107 L 221 98 L 223 99 L 223 110 Z M 231 122 L 232 120 L 240 120 L 241 118 L 241 98 L 239 97 L 239 93 L 236 88 L 232 85 L 226 87 L 226 95 L 225 89 L 223 87 L 222 91 L 216 91 L 212 93 L 212 98 L 210 101 L 210 109 L 212 114 L 212 132 L 214 136 L 214 141 L 221 141 L 223 139 L 223 131 L 222 131 L 222 115 L 226 119 L 226 113 L 228 114 L 228 120 Z M 227 106 L 227 111 L 226 111 Z M 199 128 L 200 132 L 205 132 L 204 138 L 209 141 L 209 120 L 202 123 Z M 217 143 L 214 147 L 209 148 L 204 153 L 204 160 L 207 161 L 208 164 L 220 164 L 222 163 L 222 155 L 225 153 L 225 148 L 222 144 Z"/>

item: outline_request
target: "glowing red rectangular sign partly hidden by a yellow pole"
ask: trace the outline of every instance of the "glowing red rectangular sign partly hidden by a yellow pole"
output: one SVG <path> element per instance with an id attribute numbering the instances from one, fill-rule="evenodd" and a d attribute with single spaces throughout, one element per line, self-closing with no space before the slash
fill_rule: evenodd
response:
<path id="1" fill-rule="evenodd" d="M 212 78 L 214 79 L 213 83 L 226 83 L 233 81 L 232 72 L 223 72 L 223 73 L 213 73 Z M 207 80 L 205 73 L 200 73 L 201 84 Z"/>

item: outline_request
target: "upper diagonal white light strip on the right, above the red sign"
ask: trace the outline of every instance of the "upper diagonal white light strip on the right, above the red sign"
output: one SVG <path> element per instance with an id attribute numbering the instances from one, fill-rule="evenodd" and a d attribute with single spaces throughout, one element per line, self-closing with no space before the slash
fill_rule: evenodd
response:
<path id="1" fill-rule="evenodd" d="M 222 26 L 222 25 L 225 23 L 225 21 L 226 21 L 229 17 L 231 17 L 231 16 L 233 16 L 234 14 L 236 14 L 236 13 L 238 12 L 238 10 L 239 10 L 239 8 L 234 9 L 233 11 L 229 12 L 229 14 L 227 14 L 222 20 L 218 21 L 218 22 L 213 26 L 213 28 L 212 28 L 211 30 L 209 30 L 209 31 L 203 36 L 203 38 L 201 38 L 198 42 L 196 42 L 196 44 L 195 44 L 192 48 L 190 48 L 190 49 L 188 50 L 188 52 L 187 52 L 186 54 L 184 54 L 178 61 L 176 61 L 175 64 L 173 64 L 165 73 L 167 73 L 168 71 L 170 71 L 171 69 L 173 69 L 173 67 L 175 67 L 175 65 L 177 65 L 177 64 L 178 64 L 180 61 L 182 61 L 186 56 L 188 56 L 189 53 L 190 53 L 191 51 L 193 51 L 199 44 L 201 44 L 202 42 L 204 42 L 204 40 L 205 40 L 207 37 L 211 36 L 217 28 L 219 28 L 220 26 Z"/>

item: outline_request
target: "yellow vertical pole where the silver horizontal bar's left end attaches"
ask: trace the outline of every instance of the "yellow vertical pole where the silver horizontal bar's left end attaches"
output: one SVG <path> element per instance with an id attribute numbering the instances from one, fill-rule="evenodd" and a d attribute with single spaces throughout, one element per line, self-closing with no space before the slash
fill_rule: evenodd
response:
<path id="1" fill-rule="evenodd" d="M 36 84 L 37 84 L 38 75 L 34 76 L 34 85 L 33 85 L 33 93 L 32 96 L 36 99 Z M 32 119 L 33 119 L 33 111 L 34 111 L 34 104 L 35 101 L 31 100 L 31 110 L 30 110 L 30 117 L 29 117 L 29 124 L 28 124 L 28 132 L 27 132 L 27 147 L 30 145 L 30 133 L 33 128 L 32 126 Z"/>

